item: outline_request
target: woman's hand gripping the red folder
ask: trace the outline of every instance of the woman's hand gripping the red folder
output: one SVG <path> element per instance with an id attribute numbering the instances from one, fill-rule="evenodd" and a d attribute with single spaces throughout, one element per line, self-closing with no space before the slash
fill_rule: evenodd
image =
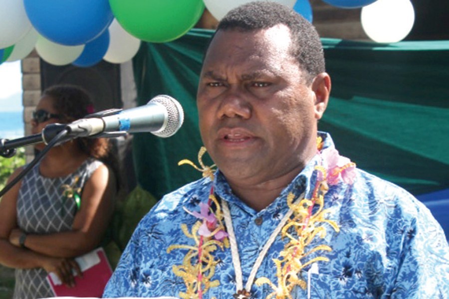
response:
<path id="1" fill-rule="evenodd" d="M 59 278 L 59 280 L 67 287 L 75 286 L 75 278 L 73 270 L 76 275 L 82 277 L 81 269 L 78 263 L 73 259 L 66 258 L 50 258 L 44 259 L 42 268 L 47 273 L 53 272 Z"/>

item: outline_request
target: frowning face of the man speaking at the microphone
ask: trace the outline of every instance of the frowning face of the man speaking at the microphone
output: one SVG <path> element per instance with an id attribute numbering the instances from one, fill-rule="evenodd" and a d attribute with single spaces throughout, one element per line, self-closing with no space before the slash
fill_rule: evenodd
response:
<path id="1" fill-rule="evenodd" d="M 197 94 L 200 132 L 230 183 L 276 179 L 316 153 L 322 112 L 290 42 L 289 29 L 276 25 L 219 31 L 208 49 Z"/>

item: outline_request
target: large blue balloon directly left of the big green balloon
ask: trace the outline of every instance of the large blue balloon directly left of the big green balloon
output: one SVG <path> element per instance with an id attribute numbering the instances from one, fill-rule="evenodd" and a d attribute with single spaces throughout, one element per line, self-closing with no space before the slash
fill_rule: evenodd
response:
<path id="1" fill-rule="evenodd" d="M 17 1 L 17 0 L 14 0 Z M 23 0 L 31 24 L 46 39 L 82 45 L 102 34 L 113 15 L 108 0 Z"/>

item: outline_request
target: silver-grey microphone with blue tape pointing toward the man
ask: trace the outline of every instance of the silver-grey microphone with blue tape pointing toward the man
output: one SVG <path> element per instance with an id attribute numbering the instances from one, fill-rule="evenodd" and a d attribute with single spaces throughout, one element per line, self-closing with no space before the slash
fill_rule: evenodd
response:
<path id="1" fill-rule="evenodd" d="M 174 98 L 159 95 L 147 105 L 122 110 L 117 114 L 79 119 L 66 125 L 67 136 L 101 137 L 107 133 L 150 132 L 167 138 L 173 136 L 184 122 L 184 111 Z M 45 130 L 44 130 L 45 131 Z M 45 141 L 45 138 L 44 138 Z"/>

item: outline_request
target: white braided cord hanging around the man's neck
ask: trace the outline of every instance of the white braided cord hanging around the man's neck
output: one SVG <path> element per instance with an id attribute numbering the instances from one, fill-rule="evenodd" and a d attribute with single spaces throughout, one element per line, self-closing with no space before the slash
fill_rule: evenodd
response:
<path id="1" fill-rule="evenodd" d="M 299 197 L 299 200 L 301 200 L 304 197 L 304 193 L 302 193 Z M 225 218 L 225 224 L 226 224 L 226 231 L 229 238 L 229 244 L 231 249 L 231 255 L 232 255 L 232 264 L 234 266 L 234 272 L 235 272 L 235 283 L 236 283 L 236 292 L 240 290 L 243 290 L 243 275 L 241 272 L 241 264 L 240 264 L 240 256 L 238 254 L 238 247 L 237 247 L 237 240 L 235 239 L 234 234 L 234 228 L 232 226 L 232 218 L 230 216 L 229 207 L 227 205 L 227 202 L 225 200 L 222 200 L 222 209 L 223 209 L 223 217 Z M 260 265 L 262 264 L 262 261 L 268 252 L 268 249 L 273 244 L 274 240 L 276 240 L 277 235 L 280 233 L 281 229 L 284 227 L 287 220 L 292 215 L 293 210 L 289 209 L 287 213 L 282 217 L 282 220 L 278 223 L 276 228 L 271 233 L 270 237 L 268 238 L 267 242 L 263 246 L 262 250 L 260 251 L 259 255 L 257 256 L 254 265 L 252 265 L 251 272 L 249 273 L 248 281 L 245 284 L 246 292 L 250 293 L 252 284 L 254 283 L 255 276 L 257 274 L 257 270 L 259 269 Z"/>

